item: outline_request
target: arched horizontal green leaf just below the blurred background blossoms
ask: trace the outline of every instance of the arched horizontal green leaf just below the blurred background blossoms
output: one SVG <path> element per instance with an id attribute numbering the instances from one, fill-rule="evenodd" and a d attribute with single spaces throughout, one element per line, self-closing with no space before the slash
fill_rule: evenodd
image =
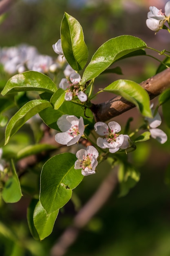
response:
<path id="1" fill-rule="evenodd" d="M 57 87 L 49 76 L 36 71 L 26 71 L 12 76 L 8 80 L 1 94 L 5 95 L 23 91 L 55 92 L 56 90 Z"/>

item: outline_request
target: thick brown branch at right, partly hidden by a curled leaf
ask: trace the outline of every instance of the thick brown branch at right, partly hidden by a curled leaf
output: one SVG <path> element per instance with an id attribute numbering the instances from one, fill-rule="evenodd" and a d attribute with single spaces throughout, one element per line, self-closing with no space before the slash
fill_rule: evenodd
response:
<path id="1" fill-rule="evenodd" d="M 170 87 L 170 68 L 152 76 L 140 85 L 148 92 L 150 99 L 155 98 Z M 135 105 L 123 97 L 117 96 L 104 103 L 93 104 L 91 110 L 95 116 L 95 121 L 107 121 L 134 107 Z"/>

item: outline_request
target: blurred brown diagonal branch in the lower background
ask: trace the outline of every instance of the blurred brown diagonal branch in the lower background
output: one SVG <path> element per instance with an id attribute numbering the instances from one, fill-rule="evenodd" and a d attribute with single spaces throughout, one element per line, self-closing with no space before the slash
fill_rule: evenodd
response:
<path id="1" fill-rule="evenodd" d="M 110 194 L 113 192 L 117 185 L 117 169 L 118 166 L 109 173 L 96 193 L 77 213 L 73 220 L 73 225 L 64 231 L 60 239 L 52 248 L 51 256 L 63 256 L 66 253 L 68 247 L 75 242 L 80 229 L 86 226 L 89 220 L 91 220 L 95 213 L 97 213 L 97 211 L 108 200 Z"/>

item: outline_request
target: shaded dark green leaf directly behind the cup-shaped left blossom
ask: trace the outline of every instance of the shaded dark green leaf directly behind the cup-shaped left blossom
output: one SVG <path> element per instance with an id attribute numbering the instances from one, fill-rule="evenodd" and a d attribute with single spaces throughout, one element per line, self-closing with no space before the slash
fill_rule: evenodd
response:
<path id="1" fill-rule="evenodd" d="M 86 114 L 86 117 L 84 116 L 84 113 Z M 55 130 L 60 130 L 57 126 L 57 119 L 65 114 L 75 115 L 78 118 L 83 117 L 84 124 L 88 124 L 86 129 L 94 128 L 94 118 L 91 110 L 87 108 L 84 112 L 82 105 L 78 105 L 73 101 L 64 101 L 58 110 L 54 110 L 50 107 L 39 113 L 44 123 Z"/>

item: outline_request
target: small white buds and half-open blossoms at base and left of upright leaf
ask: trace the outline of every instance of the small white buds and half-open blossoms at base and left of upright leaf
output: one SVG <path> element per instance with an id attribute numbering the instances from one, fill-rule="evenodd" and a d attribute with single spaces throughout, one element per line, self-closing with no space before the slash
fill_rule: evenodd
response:
<path id="1" fill-rule="evenodd" d="M 53 49 L 57 54 L 59 54 L 59 56 L 64 56 L 61 39 L 53 45 Z M 83 87 L 79 84 L 81 76 L 76 73 L 70 65 L 67 65 L 64 70 L 64 75 L 66 78 L 62 78 L 59 83 L 59 87 L 66 91 L 65 100 L 71 101 L 75 96 L 77 96 L 80 101 L 87 101 L 87 95 L 83 92 Z"/>

